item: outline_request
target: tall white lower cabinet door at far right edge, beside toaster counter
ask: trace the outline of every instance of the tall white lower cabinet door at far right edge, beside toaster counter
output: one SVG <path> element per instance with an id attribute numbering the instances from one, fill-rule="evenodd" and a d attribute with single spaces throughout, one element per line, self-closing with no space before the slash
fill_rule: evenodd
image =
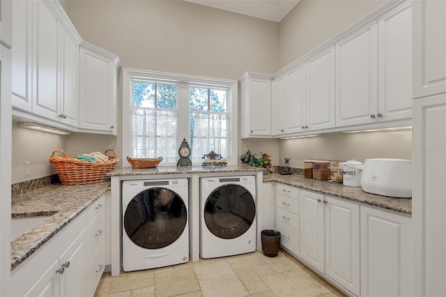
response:
<path id="1" fill-rule="evenodd" d="M 413 101 L 414 296 L 446 296 L 446 94 Z"/>

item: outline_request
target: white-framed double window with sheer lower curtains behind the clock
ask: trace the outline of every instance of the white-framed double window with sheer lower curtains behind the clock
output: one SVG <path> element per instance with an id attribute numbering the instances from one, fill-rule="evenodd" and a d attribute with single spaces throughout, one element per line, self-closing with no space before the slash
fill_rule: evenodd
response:
<path id="1" fill-rule="evenodd" d="M 123 70 L 123 154 L 176 165 L 183 138 L 194 165 L 210 151 L 236 164 L 237 81 Z M 128 164 L 124 164 L 128 166 Z"/>

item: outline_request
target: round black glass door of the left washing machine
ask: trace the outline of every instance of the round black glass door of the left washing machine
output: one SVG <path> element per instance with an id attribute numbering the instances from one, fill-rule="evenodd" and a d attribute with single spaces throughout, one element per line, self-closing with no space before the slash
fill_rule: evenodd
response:
<path id="1" fill-rule="evenodd" d="M 187 210 L 176 192 L 151 188 L 135 196 L 125 209 L 124 229 L 141 248 L 158 249 L 174 243 L 183 234 Z"/>

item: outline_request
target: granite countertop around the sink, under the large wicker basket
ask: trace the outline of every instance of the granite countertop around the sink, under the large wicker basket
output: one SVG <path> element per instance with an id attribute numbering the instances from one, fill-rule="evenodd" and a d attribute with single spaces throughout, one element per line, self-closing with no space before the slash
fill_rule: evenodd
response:
<path id="1" fill-rule="evenodd" d="M 11 199 L 12 218 L 51 215 L 11 242 L 11 271 L 110 189 L 110 183 L 48 185 Z"/>

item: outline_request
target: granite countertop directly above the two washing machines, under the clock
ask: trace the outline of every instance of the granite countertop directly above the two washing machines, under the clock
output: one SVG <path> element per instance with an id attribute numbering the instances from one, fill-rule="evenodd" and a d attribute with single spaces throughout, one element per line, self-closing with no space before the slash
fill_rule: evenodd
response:
<path id="1" fill-rule="evenodd" d="M 137 176 L 137 175 L 160 175 L 160 174 L 203 174 L 203 173 L 221 173 L 221 172 L 261 172 L 260 167 L 251 167 L 247 165 L 227 165 L 227 166 L 160 166 L 156 168 L 136 169 L 132 167 L 116 168 L 107 176 Z"/>

